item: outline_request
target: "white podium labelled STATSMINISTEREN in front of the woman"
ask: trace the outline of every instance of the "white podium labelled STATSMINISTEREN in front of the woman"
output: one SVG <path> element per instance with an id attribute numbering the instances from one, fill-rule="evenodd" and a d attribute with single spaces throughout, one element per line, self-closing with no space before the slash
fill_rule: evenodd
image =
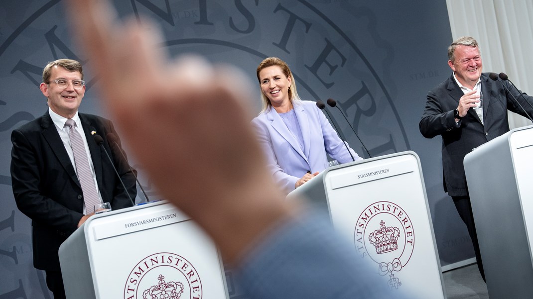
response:
<path id="1" fill-rule="evenodd" d="M 375 157 L 328 168 L 289 193 L 327 209 L 333 225 L 375 265 L 383 284 L 446 298 L 418 156 Z"/>

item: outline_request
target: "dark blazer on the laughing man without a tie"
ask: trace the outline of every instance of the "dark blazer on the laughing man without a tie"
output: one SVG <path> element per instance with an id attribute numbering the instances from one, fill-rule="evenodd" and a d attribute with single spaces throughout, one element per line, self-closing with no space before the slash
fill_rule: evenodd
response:
<path id="1" fill-rule="evenodd" d="M 454 80 L 453 74 L 427 93 L 427 102 L 418 128 L 424 137 L 442 136 L 442 172 L 444 190 L 450 196 L 466 196 L 466 177 L 463 160 L 472 149 L 509 131 L 507 110 L 526 116 L 515 103 L 513 97 L 505 90 L 502 83 L 491 80 L 488 73 L 481 74 L 481 92 L 483 93 L 483 123 L 478 114 L 470 109 L 456 126 L 454 110 L 459 99 L 464 95 Z M 533 115 L 531 103 L 533 97 L 520 93 L 506 81 L 511 94 L 518 99 L 526 111 Z M 497 157 L 495 157 L 497 159 Z"/>

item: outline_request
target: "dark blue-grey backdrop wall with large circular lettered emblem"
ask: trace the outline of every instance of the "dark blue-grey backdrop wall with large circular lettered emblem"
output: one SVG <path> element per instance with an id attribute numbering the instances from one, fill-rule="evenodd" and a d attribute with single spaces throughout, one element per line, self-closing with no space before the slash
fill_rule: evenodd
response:
<path id="1" fill-rule="evenodd" d="M 415 151 L 442 265 L 473 256 L 466 229 L 442 190 L 441 140 L 418 131 L 427 90 L 451 74 L 445 0 L 114 2 L 122 16 L 155 20 L 165 32 L 161 47 L 172 55 L 198 53 L 233 63 L 254 82 L 257 64 L 278 56 L 292 68 L 303 99 L 336 99 L 371 155 Z M 11 131 L 47 109 L 38 89 L 44 65 L 63 57 L 82 61 L 87 91 L 80 110 L 106 116 L 95 100 L 98 75 L 74 45 L 62 6 L 61 0 L 0 3 L 0 298 L 50 298 L 44 273 L 33 268 L 30 220 L 14 203 L 10 177 Z M 259 88 L 250 101 L 259 112 Z M 329 113 L 352 147 L 367 156 L 340 112 Z M 157 196 L 138 169 L 145 189 Z"/>

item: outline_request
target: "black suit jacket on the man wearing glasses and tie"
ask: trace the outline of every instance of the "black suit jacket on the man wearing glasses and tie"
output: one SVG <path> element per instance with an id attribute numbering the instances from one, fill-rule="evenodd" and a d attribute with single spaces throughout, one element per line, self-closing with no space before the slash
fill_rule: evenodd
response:
<path id="1" fill-rule="evenodd" d="M 118 136 L 111 121 L 83 113 L 79 113 L 79 118 L 103 201 L 110 202 L 112 210 L 131 206 L 106 153 L 93 142 L 91 135 L 94 130 L 104 138 L 103 146 L 135 200 L 135 177 L 118 153 L 122 149 L 110 146 L 106 140 L 109 132 Z M 59 246 L 76 230 L 83 216 L 83 193 L 74 166 L 48 111 L 13 130 L 11 142 L 13 194 L 19 210 L 31 219 L 34 266 L 42 270 L 60 270 Z"/>

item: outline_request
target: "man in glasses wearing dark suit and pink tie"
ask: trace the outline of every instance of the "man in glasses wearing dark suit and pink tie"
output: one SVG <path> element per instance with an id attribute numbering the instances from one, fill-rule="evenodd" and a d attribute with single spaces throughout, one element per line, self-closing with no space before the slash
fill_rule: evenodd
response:
<path id="1" fill-rule="evenodd" d="M 108 133 L 117 136 L 112 123 L 78 113 L 85 93 L 82 65 L 68 59 L 50 62 L 39 88 L 49 110 L 13 130 L 11 177 L 17 206 L 31 219 L 34 267 L 46 271 L 46 284 L 57 299 L 65 296 L 58 256 L 61 243 L 94 214 L 93 203 L 109 202 L 112 210 L 132 206 L 136 185 L 128 162 L 118 153 L 122 151 L 120 145 L 106 140 Z M 77 142 L 70 139 L 70 120 L 81 137 L 76 139 L 80 140 L 80 151 L 75 149 Z M 127 192 L 104 157 L 106 153 L 95 143 L 95 135 L 104 138 L 103 147 L 112 156 Z M 86 169 L 80 168 L 83 163 L 77 160 L 77 153 L 84 155 Z M 83 179 L 82 173 L 88 179 Z"/>

